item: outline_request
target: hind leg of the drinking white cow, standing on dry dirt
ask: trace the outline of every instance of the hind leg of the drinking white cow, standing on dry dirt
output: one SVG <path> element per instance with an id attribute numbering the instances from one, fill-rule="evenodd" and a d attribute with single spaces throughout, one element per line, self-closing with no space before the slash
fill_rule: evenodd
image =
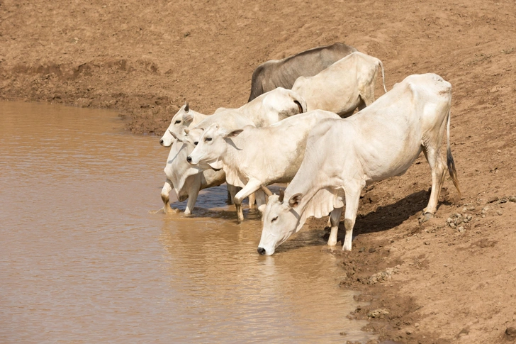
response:
<path id="1" fill-rule="evenodd" d="M 425 157 L 427 158 L 428 165 L 432 170 L 432 192 L 430 192 L 430 199 L 428 205 L 423 209 L 423 222 L 434 217 L 434 213 L 437 211 L 437 204 L 439 202 L 439 194 L 441 192 L 442 184 L 444 183 L 444 177 L 447 170 L 446 163 L 439 154 L 439 150 L 434 148 L 423 149 Z"/>

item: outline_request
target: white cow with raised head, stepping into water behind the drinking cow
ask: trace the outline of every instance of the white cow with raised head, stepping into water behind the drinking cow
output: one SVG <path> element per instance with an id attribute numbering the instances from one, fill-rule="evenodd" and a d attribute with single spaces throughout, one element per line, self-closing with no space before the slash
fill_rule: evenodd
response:
<path id="1" fill-rule="evenodd" d="M 222 169 L 229 184 L 242 187 L 235 196 L 235 206 L 238 221 L 243 221 L 242 199 L 261 187 L 290 182 L 303 161 L 308 132 L 325 118 L 339 116 L 310 111 L 264 128 L 246 126 L 236 131 L 213 123 L 186 160 L 192 165 L 203 163 Z"/>

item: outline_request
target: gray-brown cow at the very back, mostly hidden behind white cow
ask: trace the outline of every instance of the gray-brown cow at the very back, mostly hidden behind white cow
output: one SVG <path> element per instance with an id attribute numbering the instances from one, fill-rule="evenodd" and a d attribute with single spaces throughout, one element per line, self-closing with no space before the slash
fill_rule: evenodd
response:
<path id="1" fill-rule="evenodd" d="M 291 89 L 298 77 L 313 77 L 357 49 L 344 43 L 334 43 L 299 52 L 281 60 L 270 60 L 259 65 L 252 73 L 252 101 L 260 94 L 276 87 Z"/>

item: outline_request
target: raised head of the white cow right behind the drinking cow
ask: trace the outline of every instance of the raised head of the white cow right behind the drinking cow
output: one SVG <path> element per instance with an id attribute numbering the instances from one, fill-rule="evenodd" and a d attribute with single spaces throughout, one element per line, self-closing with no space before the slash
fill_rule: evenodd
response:
<path id="1" fill-rule="evenodd" d="M 215 170 L 221 169 L 222 157 L 228 150 L 225 139 L 234 138 L 240 133 L 242 133 L 242 130 L 228 132 L 224 128 L 220 128 L 217 123 L 213 123 L 198 138 L 196 148 L 186 158 L 186 161 L 191 165 L 203 163 L 208 164 Z"/>

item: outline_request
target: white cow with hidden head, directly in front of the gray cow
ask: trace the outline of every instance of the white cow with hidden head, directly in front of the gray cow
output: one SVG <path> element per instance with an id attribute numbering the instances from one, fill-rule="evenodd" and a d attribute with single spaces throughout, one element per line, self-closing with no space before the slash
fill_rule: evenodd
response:
<path id="1" fill-rule="evenodd" d="M 381 61 L 362 52 L 352 52 L 313 77 L 298 77 L 292 90 L 305 99 L 308 111 L 322 109 L 347 117 L 357 107 L 373 103 L 378 68 L 387 91 Z"/>

